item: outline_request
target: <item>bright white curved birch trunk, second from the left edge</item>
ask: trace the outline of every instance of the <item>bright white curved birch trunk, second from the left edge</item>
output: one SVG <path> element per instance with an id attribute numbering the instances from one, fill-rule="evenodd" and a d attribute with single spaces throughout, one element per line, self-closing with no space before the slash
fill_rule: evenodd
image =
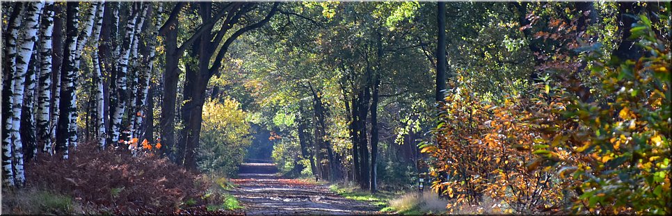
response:
<path id="1" fill-rule="evenodd" d="M 24 156 L 23 144 L 21 142 L 21 135 L 19 135 L 19 126 L 21 126 L 21 111 L 24 102 L 24 85 L 26 81 L 26 71 L 28 63 L 33 54 L 33 47 L 37 39 L 38 29 L 40 28 L 40 14 L 42 7 L 45 6 L 45 1 L 33 2 L 26 8 L 26 31 L 22 33 L 23 42 L 21 44 L 16 59 L 16 74 L 14 76 L 14 96 L 12 106 L 12 140 L 14 145 L 14 168 L 15 168 L 15 183 L 23 185 L 26 181 L 24 176 Z"/>

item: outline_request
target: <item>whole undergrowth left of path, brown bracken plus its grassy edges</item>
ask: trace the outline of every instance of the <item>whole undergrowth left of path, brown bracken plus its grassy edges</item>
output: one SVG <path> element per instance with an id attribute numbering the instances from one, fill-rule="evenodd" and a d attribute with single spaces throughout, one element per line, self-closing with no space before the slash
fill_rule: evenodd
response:
<path id="1" fill-rule="evenodd" d="M 152 153 L 131 156 L 124 148 L 97 149 L 81 144 L 70 159 L 40 155 L 26 163 L 26 185 L 3 190 L 10 214 L 231 214 L 237 201 L 209 188 L 231 187 L 210 181 Z M 234 200 L 234 199 L 233 199 Z M 207 206 L 221 208 L 207 208 Z M 208 214 L 211 214 L 208 213 Z"/>

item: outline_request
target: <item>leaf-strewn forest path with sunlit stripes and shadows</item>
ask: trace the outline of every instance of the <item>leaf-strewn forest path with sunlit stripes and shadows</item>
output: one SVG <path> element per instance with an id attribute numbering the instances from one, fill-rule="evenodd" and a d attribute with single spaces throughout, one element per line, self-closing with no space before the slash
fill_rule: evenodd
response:
<path id="1" fill-rule="evenodd" d="M 378 207 L 331 192 L 328 185 L 282 178 L 271 163 L 243 163 L 231 191 L 246 215 L 379 215 Z"/>

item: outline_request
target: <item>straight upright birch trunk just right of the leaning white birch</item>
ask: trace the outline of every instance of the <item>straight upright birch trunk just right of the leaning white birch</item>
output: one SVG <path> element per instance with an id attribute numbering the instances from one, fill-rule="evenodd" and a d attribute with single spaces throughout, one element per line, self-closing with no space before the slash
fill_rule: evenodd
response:
<path id="1" fill-rule="evenodd" d="M 37 140 L 38 149 L 49 152 L 49 128 L 51 128 L 51 35 L 54 33 L 54 1 L 45 3 L 40 29 L 40 76 L 38 77 Z"/>

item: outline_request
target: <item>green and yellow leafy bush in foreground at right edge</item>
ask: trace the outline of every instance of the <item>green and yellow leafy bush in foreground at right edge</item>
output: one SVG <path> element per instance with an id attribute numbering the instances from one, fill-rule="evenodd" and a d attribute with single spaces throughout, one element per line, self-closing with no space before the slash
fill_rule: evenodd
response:
<path id="1" fill-rule="evenodd" d="M 657 22 L 640 15 L 632 26 L 630 39 L 646 51 L 636 61 L 605 61 L 599 49 L 588 49 L 606 103 L 553 91 L 566 106 L 554 109 L 561 118 L 543 127 L 546 139 L 536 142 L 533 164 L 567 176 L 566 187 L 579 194 L 570 206 L 575 213 L 672 214 L 672 38 L 653 30 L 669 33 L 671 10 L 668 2 Z"/>

